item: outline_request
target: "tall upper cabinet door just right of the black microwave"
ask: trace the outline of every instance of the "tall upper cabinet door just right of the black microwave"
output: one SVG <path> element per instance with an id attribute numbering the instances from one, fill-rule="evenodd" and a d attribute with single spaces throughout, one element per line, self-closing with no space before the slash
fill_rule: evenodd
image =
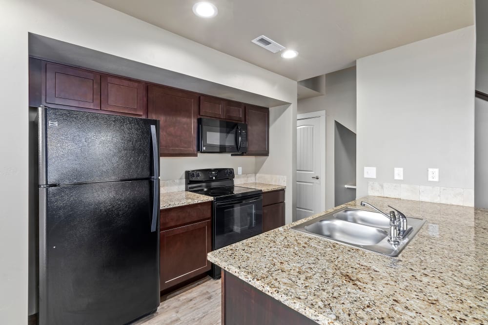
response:
<path id="1" fill-rule="evenodd" d="M 247 154 L 269 154 L 269 109 L 246 106 Z"/>

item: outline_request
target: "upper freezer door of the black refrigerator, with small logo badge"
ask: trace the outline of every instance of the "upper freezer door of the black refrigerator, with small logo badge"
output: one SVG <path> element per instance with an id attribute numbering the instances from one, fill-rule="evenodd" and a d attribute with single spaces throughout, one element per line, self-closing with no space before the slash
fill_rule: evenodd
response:
<path id="1" fill-rule="evenodd" d="M 157 178 L 151 125 L 159 134 L 157 120 L 40 108 L 39 184 Z"/>

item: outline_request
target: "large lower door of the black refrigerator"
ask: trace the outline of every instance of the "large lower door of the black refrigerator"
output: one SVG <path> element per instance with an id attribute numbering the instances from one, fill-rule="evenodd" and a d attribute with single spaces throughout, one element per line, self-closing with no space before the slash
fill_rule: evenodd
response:
<path id="1" fill-rule="evenodd" d="M 153 182 L 39 189 L 40 325 L 125 324 L 159 306 Z"/>

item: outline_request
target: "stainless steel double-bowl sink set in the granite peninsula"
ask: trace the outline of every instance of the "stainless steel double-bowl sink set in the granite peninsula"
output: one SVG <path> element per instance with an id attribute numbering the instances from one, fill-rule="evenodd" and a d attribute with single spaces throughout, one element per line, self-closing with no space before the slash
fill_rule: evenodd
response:
<path id="1" fill-rule="evenodd" d="M 426 222 L 411 217 L 407 217 L 407 221 L 407 234 L 398 243 L 388 241 L 388 218 L 375 211 L 357 208 L 335 210 L 291 229 L 348 246 L 398 256 Z"/>

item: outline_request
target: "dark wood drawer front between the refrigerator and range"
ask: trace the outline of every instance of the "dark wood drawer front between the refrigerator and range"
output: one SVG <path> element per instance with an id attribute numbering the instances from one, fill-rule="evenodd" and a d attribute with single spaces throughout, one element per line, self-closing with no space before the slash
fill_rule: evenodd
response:
<path id="1" fill-rule="evenodd" d="M 191 222 L 210 219 L 212 203 L 198 203 L 190 206 L 165 209 L 160 211 L 160 229 L 168 229 Z"/>

